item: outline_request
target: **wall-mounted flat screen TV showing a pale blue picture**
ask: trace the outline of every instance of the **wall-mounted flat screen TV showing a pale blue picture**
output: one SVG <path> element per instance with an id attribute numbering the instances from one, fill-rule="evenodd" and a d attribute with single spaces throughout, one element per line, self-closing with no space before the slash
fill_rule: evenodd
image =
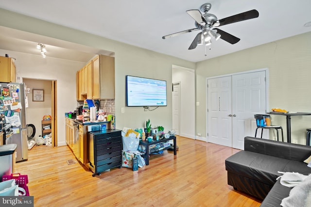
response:
<path id="1" fill-rule="evenodd" d="M 167 106 L 166 80 L 126 76 L 126 106 Z"/>

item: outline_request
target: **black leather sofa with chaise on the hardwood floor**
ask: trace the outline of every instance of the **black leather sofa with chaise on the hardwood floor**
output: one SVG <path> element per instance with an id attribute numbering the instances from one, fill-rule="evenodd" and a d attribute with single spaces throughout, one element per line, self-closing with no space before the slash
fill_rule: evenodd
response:
<path id="1" fill-rule="evenodd" d="M 244 150 L 225 160 L 228 185 L 262 199 L 261 207 L 278 207 L 291 188 L 276 180 L 277 171 L 309 175 L 309 156 L 311 146 L 245 137 Z"/>

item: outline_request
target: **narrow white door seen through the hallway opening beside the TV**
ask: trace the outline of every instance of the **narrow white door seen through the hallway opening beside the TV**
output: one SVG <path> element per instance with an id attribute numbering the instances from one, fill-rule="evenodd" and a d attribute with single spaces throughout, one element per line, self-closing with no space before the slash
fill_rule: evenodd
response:
<path id="1" fill-rule="evenodd" d="M 179 135 L 180 126 L 180 83 L 173 83 L 173 129 Z"/>

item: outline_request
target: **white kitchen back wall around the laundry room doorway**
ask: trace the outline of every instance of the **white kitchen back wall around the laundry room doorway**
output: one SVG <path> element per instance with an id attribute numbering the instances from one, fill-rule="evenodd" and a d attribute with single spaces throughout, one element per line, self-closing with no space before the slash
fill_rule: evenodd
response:
<path id="1" fill-rule="evenodd" d="M 0 49 L 0 55 L 4 54 L 9 54 L 10 57 L 16 58 L 15 64 L 18 77 L 57 81 L 57 139 L 59 146 L 66 145 L 65 118 L 63 117 L 65 117 L 65 112 L 74 111 L 76 108 L 76 71 L 81 69 L 86 63 L 49 57 L 44 59 L 40 55 Z M 34 119 L 31 114 L 28 114 L 26 117 L 27 124 L 33 124 L 31 122 L 37 123 L 37 119 L 41 121 L 41 112 L 43 111 L 37 111 Z M 36 126 L 37 129 L 38 127 Z M 38 136 L 37 133 L 36 135 Z"/>

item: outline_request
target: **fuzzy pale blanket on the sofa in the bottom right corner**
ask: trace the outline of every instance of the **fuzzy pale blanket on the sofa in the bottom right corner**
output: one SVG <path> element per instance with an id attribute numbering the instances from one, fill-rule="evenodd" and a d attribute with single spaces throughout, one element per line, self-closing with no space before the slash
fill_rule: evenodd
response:
<path id="1" fill-rule="evenodd" d="M 282 200 L 281 206 L 311 207 L 311 175 L 306 176 L 300 184 L 290 191 L 290 195 Z"/>

